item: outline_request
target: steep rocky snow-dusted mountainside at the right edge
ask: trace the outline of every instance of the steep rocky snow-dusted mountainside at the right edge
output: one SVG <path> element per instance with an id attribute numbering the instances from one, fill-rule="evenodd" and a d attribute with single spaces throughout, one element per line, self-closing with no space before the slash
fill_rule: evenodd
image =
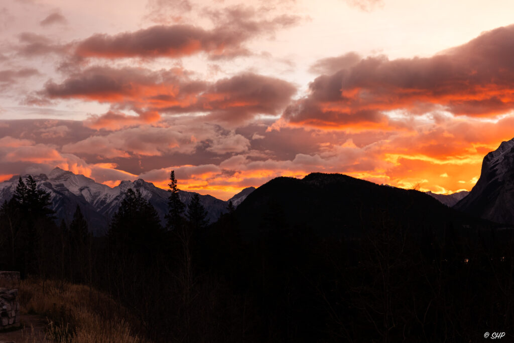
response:
<path id="1" fill-rule="evenodd" d="M 484 157 L 478 182 L 454 208 L 497 223 L 514 224 L 514 139 L 502 142 Z"/>

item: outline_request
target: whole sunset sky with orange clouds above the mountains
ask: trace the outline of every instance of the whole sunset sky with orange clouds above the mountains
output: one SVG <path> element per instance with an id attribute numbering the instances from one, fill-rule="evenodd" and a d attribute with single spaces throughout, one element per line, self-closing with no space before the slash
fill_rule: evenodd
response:
<path id="1" fill-rule="evenodd" d="M 471 190 L 514 137 L 509 1 L 0 0 L 0 181 L 224 200 L 344 173 Z"/>

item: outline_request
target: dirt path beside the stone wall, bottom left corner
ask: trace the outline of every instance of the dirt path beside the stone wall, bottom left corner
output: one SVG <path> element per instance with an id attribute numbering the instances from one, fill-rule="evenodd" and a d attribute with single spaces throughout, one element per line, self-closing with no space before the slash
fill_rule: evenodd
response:
<path id="1" fill-rule="evenodd" d="M 45 328 L 48 324 L 43 316 L 22 314 L 20 321 L 24 325 L 21 330 L 0 332 L 0 343 L 43 343 L 50 342 L 45 339 Z"/>

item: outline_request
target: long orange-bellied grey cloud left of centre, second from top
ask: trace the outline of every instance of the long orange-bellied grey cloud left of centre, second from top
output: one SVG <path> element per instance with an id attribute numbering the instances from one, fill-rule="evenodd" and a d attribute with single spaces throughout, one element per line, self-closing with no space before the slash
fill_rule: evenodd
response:
<path id="1" fill-rule="evenodd" d="M 209 119 L 241 122 L 258 114 L 279 114 L 296 93 L 296 87 L 277 78 L 251 73 L 214 83 L 190 80 L 177 70 L 90 67 L 58 84 L 46 83 L 39 96 L 82 99 L 130 109 L 139 118 L 109 111 L 91 116 L 95 129 L 117 129 L 136 123 L 156 122 L 161 113 L 208 113 Z"/>

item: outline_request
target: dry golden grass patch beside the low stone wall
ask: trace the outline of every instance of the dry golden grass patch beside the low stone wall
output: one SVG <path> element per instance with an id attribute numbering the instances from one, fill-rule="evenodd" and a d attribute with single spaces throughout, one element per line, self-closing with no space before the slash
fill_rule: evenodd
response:
<path id="1" fill-rule="evenodd" d="M 46 338 L 56 342 L 146 343 L 123 319 L 127 311 L 109 296 L 84 285 L 24 280 L 21 310 L 48 318 Z M 30 339 L 28 340 L 30 341 Z"/>

